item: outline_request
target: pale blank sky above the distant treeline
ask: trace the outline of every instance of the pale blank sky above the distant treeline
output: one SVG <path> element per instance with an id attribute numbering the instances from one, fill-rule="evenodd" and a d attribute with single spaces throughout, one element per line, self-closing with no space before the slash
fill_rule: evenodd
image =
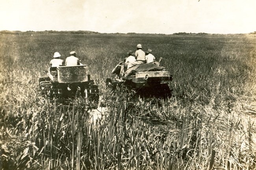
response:
<path id="1" fill-rule="evenodd" d="M 251 33 L 256 0 L 0 0 L 0 30 Z"/>

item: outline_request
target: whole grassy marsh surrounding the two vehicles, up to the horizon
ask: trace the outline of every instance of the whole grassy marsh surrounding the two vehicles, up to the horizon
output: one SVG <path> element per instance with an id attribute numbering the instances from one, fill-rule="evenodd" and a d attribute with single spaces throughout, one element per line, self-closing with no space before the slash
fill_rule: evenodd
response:
<path id="1" fill-rule="evenodd" d="M 255 169 L 255 35 L 0 35 L 0 169 Z M 141 43 L 173 74 L 173 97 L 134 99 L 105 79 Z M 54 52 L 76 51 L 104 119 L 39 95 Z"/>

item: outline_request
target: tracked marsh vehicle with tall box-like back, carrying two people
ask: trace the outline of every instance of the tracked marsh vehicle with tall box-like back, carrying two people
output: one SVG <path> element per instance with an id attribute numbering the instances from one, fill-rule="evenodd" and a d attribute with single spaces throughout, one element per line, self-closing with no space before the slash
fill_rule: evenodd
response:
<path id="1" fill-rule="evenodd" d="M 47 77 L 39 78 L 39 90 L 47 97 L 67 99 L 80 96 L 95 107 L 98 105 L 98 86 L 91 80 L 87 65 L 50 67 Z"/>

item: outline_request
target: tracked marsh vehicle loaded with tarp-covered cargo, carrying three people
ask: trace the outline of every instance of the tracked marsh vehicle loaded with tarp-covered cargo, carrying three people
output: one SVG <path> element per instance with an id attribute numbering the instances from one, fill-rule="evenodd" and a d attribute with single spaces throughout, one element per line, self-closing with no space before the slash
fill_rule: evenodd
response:
<path id="1" fill-rule="evenodd" d="M 160 59 L 161 60 L 161 59 Z M 113 70 L 115 77 L 106 79 L 106 86 L 112 90 L 117 87 L 127 87 L 145 97 L 170 97 L 172 94 L 169 83 L 173 76 L 159 62 L 135 65 L 124 70 L 124 64 L 119 63 Z"/>

